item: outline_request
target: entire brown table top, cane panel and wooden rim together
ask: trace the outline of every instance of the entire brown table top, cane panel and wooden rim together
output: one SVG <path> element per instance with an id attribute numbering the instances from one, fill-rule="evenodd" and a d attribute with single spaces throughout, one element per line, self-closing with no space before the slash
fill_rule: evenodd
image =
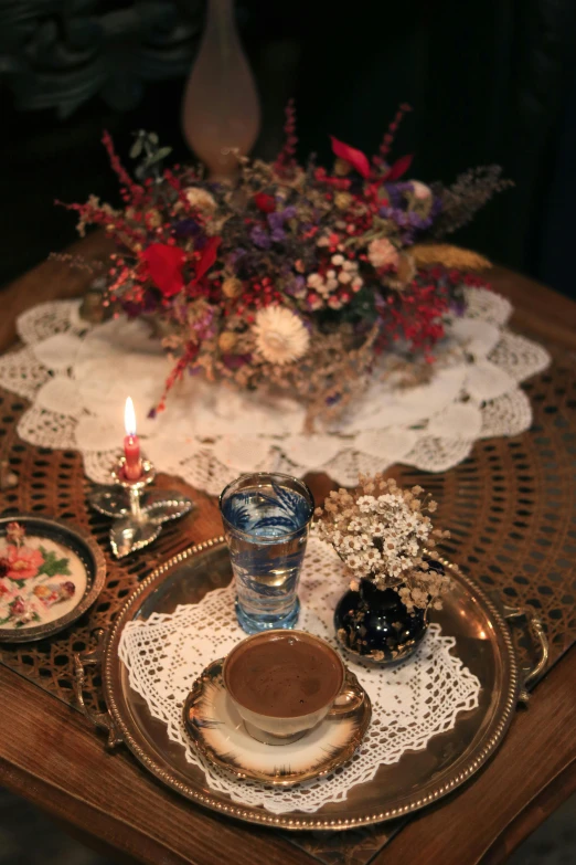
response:
<path id="1" fill-rule="evenodd" d="M 93 238 L 85 242 L 85 250 L 88 254 L 102 254 L 102 242 Z M 2 347 L 10 341 L 10 328 L 19 308 L 78 292 L 77 276 L 60 267 L 54 263 L 42 265 L 4 294 Z M 55 270 L 58 278 L 50 278 L 56 275 Z M 572 686 L 570 690 L 569 685 L 576 678 L 574 651 L 564 657 L 576 636 L 576 356 L 573 355 L 576 305 L 503 271 L 495 274 L 494 283 L 516 304 L 516 327 L 520 324 L 523 330 L 545 342 L 554 356 L 553 367 L 525 386 L 534 408 L 532 430 L 513 439 L 479 442 L 465 463 L 442 475 L 403 467 L 394 472 L 401 482 L 419 483 L 439 502 L 439 520 L 452 532 L 445 547 L 447 555 L 508 603 L 536 608 L 548 634 L 551 667 L 555 668 L 536 688 L 530 709 L 515 719 L 509 740 L 479 779 L 408 825 L 387 824 L 337 837 L 287 838 L 226 823 L 193 809 L 159 789 L 127 753 L 113 757 L 104 752 L 97 734 L 72 707 L 72 654 L 93 644 L 94 630 L 109 624 L 128 593 L 159 562 L 192 542 L 220 532 L 215 502 L 192 490 L 198 509 L 163 531 L 151 548 L 124 563 L 107 555 L 105 590 L 95 606 L 68 631 L 44 643 L 0 647 L 3 728 L 21 714 L 30 721 L 28 729 L 18 725 L 18 735 L 10 743 L 0 742 L 3 783 L 24 794 L 28 792 L 31 799 L 64 816 L 76 829 L 145 862 L 158 862 L 161 856 L 162 862 L 169 863 L 216 863 L 234 855 L 236 862 L 245 858 L 252 863 L 306 863 L 316 858 L 352 865 L 365 865 L 375 854 L 375 861 L 385 865 L 402 855 L 402 851 L 409 851 L 413 844 L 422 845 L 420 850 L 428 850 L 429 845 L 430 851 L 434 848 L 427 858 L 419 858 L 423 863 L 436 862 L 433 855 L 441 855 L 444 863 L 477 862 L 489 848 L 490 861 L 501 861 L 505 845 L 518 842 L 525 833 L 522 820 L 530 829 L 537 822 L 530 816 L 530 808 L 526 811 L 529 802 L 546 791 L 550 811 L 554 795 L 561 797 L 576 785 L 576 750 L 562 727 L 563 717 L 567 722 L 569 713 L 576 709 L 576 688 Z M 71 519 L 90 530 L 108 552 L 109 521 L 87 507 L 90 485 L 84 477 L 79 455 L 21 442 L 15 424 L 23 402 L 0 391 L 0 458 L 9 460 L 21 476 L 14 490 L 0 493 L 0 510 Z M 318 497 L 330 488 L 329 479 L 323 476 L 311 478 L 311 483 Z M 160 484 L 186 489 L 174 478 L 160 478 Z M 529 660 L 532 647 L 523 632 L 518 631 L 515 639 L 519 653 Z M 100 698 L 98 686 L 94 674 L 85 694 L 94 708 Z M 554 722 L 551 718 L 548 727 L 561 725 L 556 734 L 553 729 L 546 732 L 540 729 L 542 718 L 548 718 L 548 713 L 554 713 Z M 57 741 L 50 741 L 51 736 Z M 524 752 L 520 751 L 520 763 L 524 760 L 525 767 L 514 781 L 514 772 L 522 769 L 518 766 L 519 736 L 525 743 Z M 41 747 L 43 738 L 46 747 Z M 529 747 L 529 740 L 538 743 Z M 545 770 L 541 767 L 535 772 L 535 749 L 552 745 L 554 759 L 548 760 L 551 764 Z M 66 753 L 72 753 L 72 758 L 66 760 Z M 60 778 L 57 773 L 53 778 L 55 762 L 62 763 Z M 87 764 L 89 777 L 82 771 Z M 32 794 L 30 787 L 26 790 L 31 780 L 35 782 Z M 114 787 L 106 790 L 110 782 L 119 788 L 125 784 L 124 795 Z M 487 783 L 488 791 L 494 784 L 503 788 L 506 808 L 501 802 L 502 790 L 492 789 L 488 798 L 484 791 L 481 801 L 489 822 L 470 831 L 468 821 L 478 809 L 479 788 Z M 54 787 L 58 788 L 57 797 Z M 546 813 L 546 806 L 541 804 L 540 811 Z M 446 826 L 448 816 L 451 843 L 442 845 L 438 834 L 446 833 L 435 835 L 435 823 Z M 463 846 L 455 848 L 458 838 Z"/>

